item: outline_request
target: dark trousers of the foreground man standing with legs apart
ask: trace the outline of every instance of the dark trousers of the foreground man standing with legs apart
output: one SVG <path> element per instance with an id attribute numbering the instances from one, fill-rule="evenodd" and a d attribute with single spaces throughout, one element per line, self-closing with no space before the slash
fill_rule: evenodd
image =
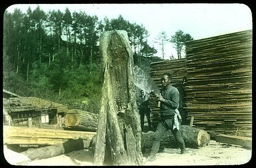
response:
<path id="1" fill-rule="evenodd" d="M 185 142 L 184 139 L 181 137 L 181 131 L 173 128 L 174 118 L 165 119 L 158 123 L 156 132 L 153 134 L 153 144 L 152 144 L 152 150 L 150 155 L 155 155 L 160 147 L 160 141 L 164 133 L 166 133 L 167 130 L 171 129 L 173 136 L 176 139 L 176 142 L 181 150 L 185 150 Z"/>

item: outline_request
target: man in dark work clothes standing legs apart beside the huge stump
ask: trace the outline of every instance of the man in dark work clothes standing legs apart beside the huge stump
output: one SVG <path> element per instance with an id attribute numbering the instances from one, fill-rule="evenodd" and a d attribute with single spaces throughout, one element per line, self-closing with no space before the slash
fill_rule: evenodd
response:
<path id="1" fill-rule="evenodd" d="M 180 114 L 177 114 L 179 113 L 177 109 L 179 108 L 180 93 L 176 87 L 171 85 L 171 80 L 172 76 L 170 73 L 162 74 L 161 82 L 163 88 L 161 89 L 161 94 L 156 95 L 157 100 L 161 102 L 161 120 L 157 125 L 156 132 L 153 134 L 152 150 L 147 158 L 148 161 L 156 160 L 156 153 L 159 150 L 161 138 L 169 129 L 171 129 L 180 147 L 181 154 L 186 153 L 185 142 L 181 137 L 181 131 L 179 129 L 181 117 Z M 177 118 L 177 116 L 179 116 L 179 118 Z"/>

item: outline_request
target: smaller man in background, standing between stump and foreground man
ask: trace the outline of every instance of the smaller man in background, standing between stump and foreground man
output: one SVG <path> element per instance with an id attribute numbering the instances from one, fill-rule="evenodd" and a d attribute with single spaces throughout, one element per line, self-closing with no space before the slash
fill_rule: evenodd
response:
<path id="1" fill-rule="evenodd" d="M 139 111 L 140 111 L 140 126 L 141 130 L 144 130 L 144 116 L 147 116 L 148 128 L 151 129 L 150 122 L 150 109 L 148 108 L 148 95 L 145 94 L 144 90 L 140 90 L 139 96 Z"/>

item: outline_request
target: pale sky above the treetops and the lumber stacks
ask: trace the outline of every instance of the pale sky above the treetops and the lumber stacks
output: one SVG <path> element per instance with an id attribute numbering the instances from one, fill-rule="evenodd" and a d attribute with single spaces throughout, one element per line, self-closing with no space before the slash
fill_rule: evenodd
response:
<path id="1" fill-rule="evenodd" d="M 13 12 L 19 8 L 26 12 L 30 6 L 34 10 L 38 4 L 15 4 L 7 8 Z M 168 38 L 175 35 L 177 30 L 190 34 L 195 40 L 228 34 L 231 32 L 252 29 L 252 11 L 245 4 L 239 3 L 144 3 L 144 4 L 39 4 L 45 12 L 49 10 L 65 11 L 66 7 L 70 12 L 84 11 L 88 15 L 98 16 L 103 20 L 105 16 L 117 18 L 122 15 L 130 23 L 143 24 L 149 32 L 148 43 L 158 49 L 153 43 L 160 31 L 166 31 Z M 169 59 L 176 51 L 173 44 L 164 46 L 165 59 Z M 161 57 L 161 50 L 157 55 Z"/>

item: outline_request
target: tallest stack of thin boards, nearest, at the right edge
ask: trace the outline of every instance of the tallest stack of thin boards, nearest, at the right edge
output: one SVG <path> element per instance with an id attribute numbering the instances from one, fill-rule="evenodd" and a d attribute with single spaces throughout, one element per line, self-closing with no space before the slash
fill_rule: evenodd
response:
<path id="1" fill-rule="evenodd" d="M 211 136 L 252 136 L 252 30 L 186 43 L 188 119 Z"/>

